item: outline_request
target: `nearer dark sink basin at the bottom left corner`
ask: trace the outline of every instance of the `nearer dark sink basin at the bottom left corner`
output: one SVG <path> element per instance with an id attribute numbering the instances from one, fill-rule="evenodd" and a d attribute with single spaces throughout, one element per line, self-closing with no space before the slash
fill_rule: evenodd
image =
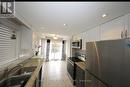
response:
<path id="1" fill-rule="evenodd" d="M 11 76 L 0 81 L 0 87 L 24 87 L 31 74 Z"/>

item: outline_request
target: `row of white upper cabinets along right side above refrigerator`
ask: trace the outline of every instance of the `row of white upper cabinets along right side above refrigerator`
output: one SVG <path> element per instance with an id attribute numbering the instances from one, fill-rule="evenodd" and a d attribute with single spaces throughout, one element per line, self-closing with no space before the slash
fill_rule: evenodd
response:
<path id="1" fill-rule="evenodd" d="M 77 34 L 83 39 L 83 48 L 86 47 L 86 42 L 121 39 L 121 32 L 127 30 L 130 37 L 130 13 L 98 25 L 91 29 L 86 29 L 83 33 Z M 73 37 L 76 37 L 74 35 Z"/>

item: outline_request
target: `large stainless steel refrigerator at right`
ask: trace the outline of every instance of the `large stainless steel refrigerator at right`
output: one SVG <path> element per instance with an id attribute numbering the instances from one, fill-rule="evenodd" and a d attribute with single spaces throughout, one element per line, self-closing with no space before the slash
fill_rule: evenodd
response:
<path id="1" fill-rule="evenodd" d="M 130 87 L 130 39 L 87 42 L 86 87 Z"/>

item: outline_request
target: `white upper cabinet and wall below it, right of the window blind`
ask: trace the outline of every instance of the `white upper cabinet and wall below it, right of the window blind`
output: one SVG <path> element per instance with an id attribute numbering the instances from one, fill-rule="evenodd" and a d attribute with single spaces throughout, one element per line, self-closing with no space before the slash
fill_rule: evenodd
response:
<path id="1" fill-rule="evenodd" d="M 29 58 L 33 56 L 32 50 L 32 30 L 21 26 L 19 30 L 19 39 L 20 39 L 20 58 Z"/>

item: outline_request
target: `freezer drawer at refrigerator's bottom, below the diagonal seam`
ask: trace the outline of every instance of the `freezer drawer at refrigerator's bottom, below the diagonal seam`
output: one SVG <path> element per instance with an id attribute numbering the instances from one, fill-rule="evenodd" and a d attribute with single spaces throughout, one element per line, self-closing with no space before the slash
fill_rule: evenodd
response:
<path id="1" fill-rule="evenodd" d="M 85 71 L 85 87 L 108 87 L 91 75 L 87 70 Z"/>

